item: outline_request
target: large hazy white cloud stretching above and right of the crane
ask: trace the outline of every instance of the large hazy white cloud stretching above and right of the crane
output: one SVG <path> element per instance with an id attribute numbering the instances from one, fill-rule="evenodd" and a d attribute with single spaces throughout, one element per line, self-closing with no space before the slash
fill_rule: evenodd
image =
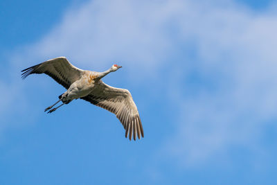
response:
<path id="1" fill-rule="evenodd" d="M 67 11 L 24 58 L 31 65 L 66 55 L 84 69 L 119 60 L 136 67 L 133 80 L 167 78 L 180 109 L 169 153 L 194 164 L 232 144 L 250 147 L 262 122 L 276 118 L 276 18 L 233 1 L 89 1 Z"/>

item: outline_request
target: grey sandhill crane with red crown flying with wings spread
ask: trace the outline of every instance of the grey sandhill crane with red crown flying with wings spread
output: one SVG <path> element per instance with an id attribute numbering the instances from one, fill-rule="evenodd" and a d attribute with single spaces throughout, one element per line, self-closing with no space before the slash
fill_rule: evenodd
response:
<path id="1" fill-rule="evenodd" d="M 114 64 L 104 72 L 87 71 L 74 67 L 66 58 L 60 57 L 22 70 L 21 77 L 25 79 L 33 73 L 45 73 L 67 89 L 64 94 L 59 96 L 59 100 L 47 107 L 44 112 L 51 113 L 62 105 L 81 98 L 116 114 L 125 129 L 126 138 L 129 134 L 129 140 L 132 139 L 132 135 L 136 140 L 137 134 L 141 139 L 143 126 L 141 125 L 138 109 L 129 91 L 111 87 L 101 80 L 108 73 L 120 68 L 120 66 Z M 62 101 L 62 105 L 53 108 L 60 101 Z"/>

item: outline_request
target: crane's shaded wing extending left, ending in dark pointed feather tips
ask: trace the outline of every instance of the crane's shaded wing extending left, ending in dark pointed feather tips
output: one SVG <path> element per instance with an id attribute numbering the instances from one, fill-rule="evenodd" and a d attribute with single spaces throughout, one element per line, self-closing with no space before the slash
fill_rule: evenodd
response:
<path id="1" fill-rule="evenodd" d="M 51 76 L 60 85 L 69 89 L 70 85 L 82 77 L 82 69 L 74 67 L 65 57 L 54 58 L 22 70 L 21 77 L 25 79 L 33 73 Z"/>

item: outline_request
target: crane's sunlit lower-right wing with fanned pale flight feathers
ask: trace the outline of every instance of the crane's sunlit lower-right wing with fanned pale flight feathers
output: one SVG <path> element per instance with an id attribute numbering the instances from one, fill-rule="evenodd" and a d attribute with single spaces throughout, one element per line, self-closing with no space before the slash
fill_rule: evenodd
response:
<path id="1" fill-rule="evenodd" d="M 82 99 L 116 114 L 125 129 L 125 137 L 129 134 L 129 140 L 132 135 L 134 140 L 136 134 L 139 139 L 144 136 L 138 109 L 127 89 L 111 87 L 100 80 L 98 88 Z"/>

